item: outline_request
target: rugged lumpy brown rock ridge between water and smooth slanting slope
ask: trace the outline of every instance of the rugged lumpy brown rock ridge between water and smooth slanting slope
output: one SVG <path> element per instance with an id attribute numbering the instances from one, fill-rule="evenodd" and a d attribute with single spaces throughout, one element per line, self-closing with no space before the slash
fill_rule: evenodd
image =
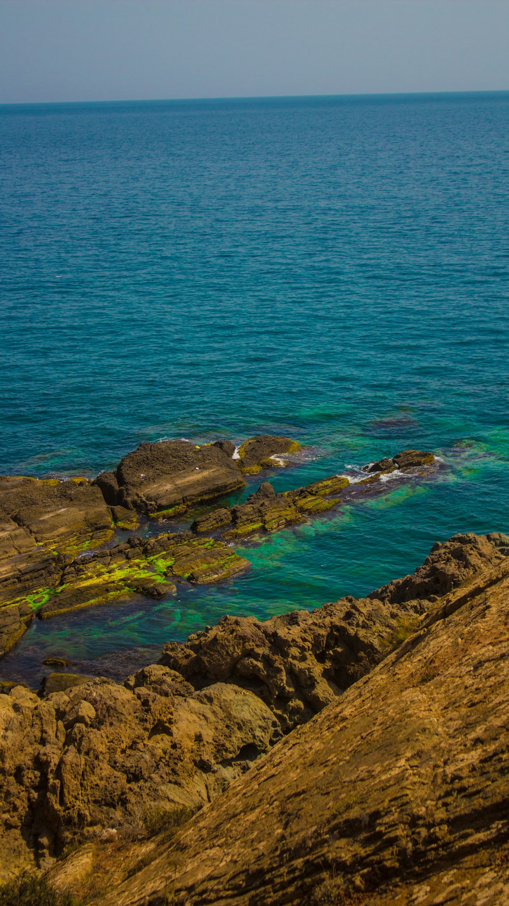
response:
<path id="1" fill-rule="evenodd" d="M 264 623 L 225 618 L 182 646 L 165 646 L 163 662 L 123 688 L 82 677 L 65 688 L 61 674 L 43 699 L 23 687 L 0 694 L 3 870 L 34 857 L 46 864 L 72 840 L 107 828 L 136 827 L 153 807 L 195 809 L 213 800 L 283 733 L 300 734 L 297 725 L 336 708 L 401 642 L 400 652 L 412 651 L 412 639 L 425 641 L 469 595 L 486 605 L 501 576 L 509 584 L 509 538 L 490 538 L 457 535 L 435 546 L 408 592 L 440 574 L 443 584 L 434 579 L 433 587 L 447 592 L 442 597 L 394 604 L 381 600 L 390 597 L 385 586 L 372 599 L 341 599 Z M 434 660 L 427 670 L 434 676 Z M 362 732 L 369 737 L 368 723 Z M 334 764 L 342 758 L 340 746 Z"/>

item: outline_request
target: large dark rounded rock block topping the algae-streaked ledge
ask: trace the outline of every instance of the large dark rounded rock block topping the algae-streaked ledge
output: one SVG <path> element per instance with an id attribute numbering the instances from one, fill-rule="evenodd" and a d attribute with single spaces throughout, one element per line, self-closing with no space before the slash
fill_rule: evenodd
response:
<path id="1" fill-rule="evenodd" d="M 189 504 L 243 487 L 245 478 L 216 444 L 197 447 L 186 440 L 162 440 L 141 444 L 114 473 L 101 472 L 95 483 L 110 506 L 176 516 Z"/>

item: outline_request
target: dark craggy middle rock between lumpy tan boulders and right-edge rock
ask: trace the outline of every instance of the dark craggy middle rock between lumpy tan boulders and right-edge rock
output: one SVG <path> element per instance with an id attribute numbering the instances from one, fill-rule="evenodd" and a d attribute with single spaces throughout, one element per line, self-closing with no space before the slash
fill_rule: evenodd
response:
<path id="1" fill-rule="evenodd" d="M 342 598 L 314 611 L 294 611 L 266 622 L 223 617 L 216 626 L 168 642 L 160 663 L 195 689 L 235 683 L 260 696 L 286 733 L 312 718 L 389 651 L 414 612 Z M 413 617 L 413 621 L 412 621 Z"/>

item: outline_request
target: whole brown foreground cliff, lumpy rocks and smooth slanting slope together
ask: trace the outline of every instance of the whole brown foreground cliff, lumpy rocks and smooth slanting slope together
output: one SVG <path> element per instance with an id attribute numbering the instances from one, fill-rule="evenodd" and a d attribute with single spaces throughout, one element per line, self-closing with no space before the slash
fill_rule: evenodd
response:
<path id="1" fill-rule="evenodd" d="M 101 906 L 504 902 L 508 553 L 456 535 L 368 599 L 226 619 L 123 687 L 0 695 L 1 871 L 53 864 Z"/>

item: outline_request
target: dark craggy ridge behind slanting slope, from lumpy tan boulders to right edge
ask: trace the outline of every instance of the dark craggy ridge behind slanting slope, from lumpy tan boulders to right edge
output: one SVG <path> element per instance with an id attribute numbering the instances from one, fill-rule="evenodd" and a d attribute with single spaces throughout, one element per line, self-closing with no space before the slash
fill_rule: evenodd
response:
<path id="1" fill-rule="evenodd" d="M 161 663 L 203 689 L 234 682 L 259 695 L 286 733 L 369 672 L 395 641 L 416 631 L 438 597 L 507 561 L 507 535 L 454 535 L 434 545 L 413 575 L 368 599 L 341 598 L 259 622 L 223 617 L 216 626 L 168 642 Z"/>

